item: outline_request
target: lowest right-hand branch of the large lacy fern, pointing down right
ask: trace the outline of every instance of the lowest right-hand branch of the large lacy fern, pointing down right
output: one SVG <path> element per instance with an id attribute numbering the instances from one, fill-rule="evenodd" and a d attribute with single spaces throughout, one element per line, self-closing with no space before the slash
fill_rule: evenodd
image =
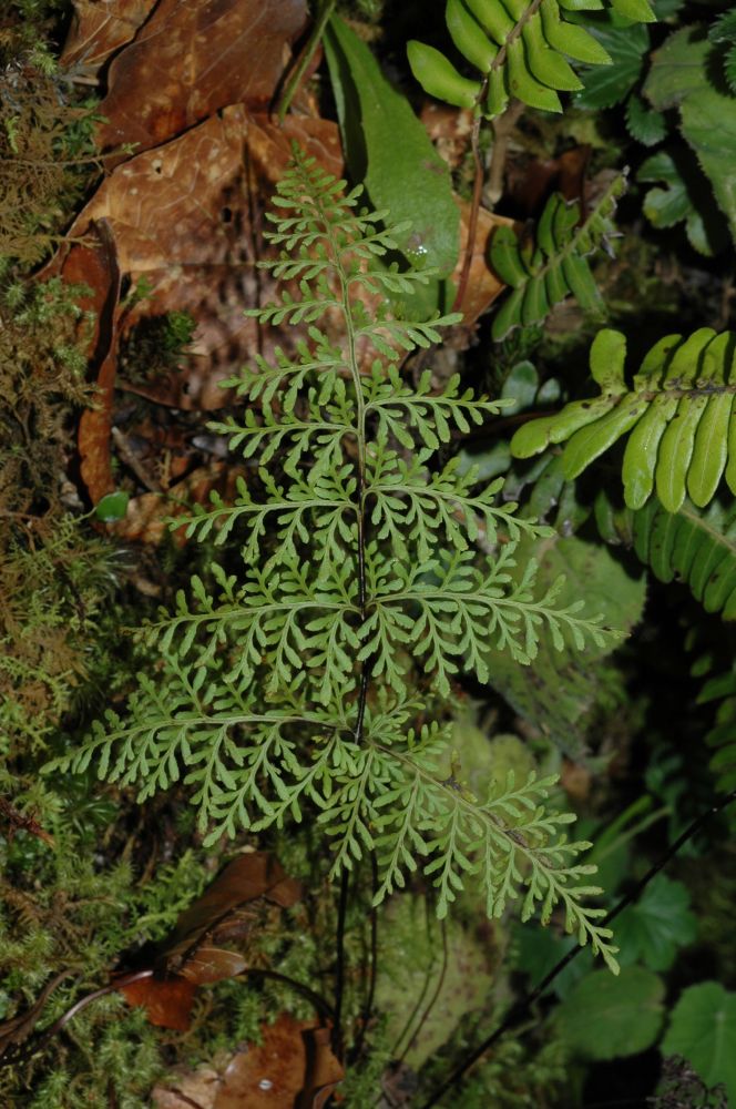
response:
<path id="1" fill-rule="evenodd" d="M 595 869 L 575 862 L 590 844 L 568 841 L 562 830 L 574 816 L 551 813 L 543 806 L 554 777 L 536 781 L 532 775 L 524 785 L 515 786 L 510 775 L 502 792 L 479 802 L 452 773 L 441 775 L 446 744 L 438 729 L 425 728 L 418 736 L 410 733 L 403 751 L 378 742 L 374 745 L 380 752 L 386 781 L 380 796 L 371 803 L 372 824 L 379 830 L 371 834 L 380 874 L 377 904 L 403 887 L 407 874 L 420 865 L 438 889 L 440 917 L 447 915 L 468 882 L 480 886 L 489 916 L 501 916 L 524 891 L 524 919 L 539 905 L 546 923 L 561 904 L 566 929 L 576 930 L 581 943 L 590 940 L 612 969 L 616 968 L 611 930 L 596 923 L 605 910 L 580 905 L 583 897 L 601 892 L 580 884 Z M 356 792 L 356 804 L 358 796 Z M 341 814 L 345 821 L 345 806 Z M 331 817 L 326 814 L 324 818 Z"/>

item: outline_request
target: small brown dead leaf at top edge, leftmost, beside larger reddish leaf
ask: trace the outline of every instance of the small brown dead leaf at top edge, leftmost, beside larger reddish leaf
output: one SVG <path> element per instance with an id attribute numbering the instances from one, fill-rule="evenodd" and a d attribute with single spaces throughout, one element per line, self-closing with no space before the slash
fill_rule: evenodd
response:
<path id="1" fill-rule="evenodd" d="M 62 69 L 74 67 L 94 78 L 116 50 L 130 42 L 156 0 L 73 0 L 74 17 L 59 59 Z"/>

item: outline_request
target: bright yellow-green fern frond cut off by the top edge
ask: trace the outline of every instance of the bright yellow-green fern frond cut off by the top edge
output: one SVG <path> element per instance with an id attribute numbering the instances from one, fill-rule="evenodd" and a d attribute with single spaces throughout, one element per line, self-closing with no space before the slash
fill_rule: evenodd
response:
<path id="1" fill-rule="evenodd" d="M 583 87 L 568 58 L 589 65 L 611 62 L 597 39 L 568 22 L 565 13 L 601 7 L 601 0 L 447 0 L 452 42 L 480 80 L 461 77 L 443 53 L 416 40 L 408 43 L 409 64 L 431 96 L 476 108 L 488 119 L 499 115 L 511 96 L 560 112 L 558 93 Z M 647 0 L 612 0 L 611 9 L 635 22 L 656 19 Z"/>

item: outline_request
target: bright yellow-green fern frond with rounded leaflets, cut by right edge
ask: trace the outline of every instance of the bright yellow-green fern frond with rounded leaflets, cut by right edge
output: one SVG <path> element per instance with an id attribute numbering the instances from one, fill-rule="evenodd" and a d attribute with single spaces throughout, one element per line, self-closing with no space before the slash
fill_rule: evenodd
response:
<path id="1" fill-rule="evenodd" d="M 562 466 L 572 479 L 631 433 L 623 460 L 626 505 L 642 508 L 656 489 L 667 512 L 677 512 L 686 494 L 703 508 L 724 474 L 736 492 L 736 438 L 729 431 L 736 426 L 735 350 L 733 332 L 717 335 L 702 327 L 686 339 L 667 335 L 648 352 L 630 388 L 624 336 L 606 328 L 590 354 L 601 396 L 527 424 L 511 440 L 511 451 L 529 458 L 568 440 Z"/>

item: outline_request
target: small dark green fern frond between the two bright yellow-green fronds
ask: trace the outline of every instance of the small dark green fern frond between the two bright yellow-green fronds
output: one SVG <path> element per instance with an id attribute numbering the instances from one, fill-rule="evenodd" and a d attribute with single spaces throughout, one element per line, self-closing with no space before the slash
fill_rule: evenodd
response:
<path id="1" fill-rule="evenodd" d="M 580 226 L 580 205 L 566 204 L 555 193 L 536 225 L 533 245 L 522 245 L 511 227 L 497 227 L 491 265 L 513 289 L 493 321 L 497 343 L 512 327 L 540 323 L 569 294 L 586 312 L 601 312 L 601 296 L 585 256 L 613 233 L 616 200 L 624 187 L 625 177 L 616 177 Z"/>

